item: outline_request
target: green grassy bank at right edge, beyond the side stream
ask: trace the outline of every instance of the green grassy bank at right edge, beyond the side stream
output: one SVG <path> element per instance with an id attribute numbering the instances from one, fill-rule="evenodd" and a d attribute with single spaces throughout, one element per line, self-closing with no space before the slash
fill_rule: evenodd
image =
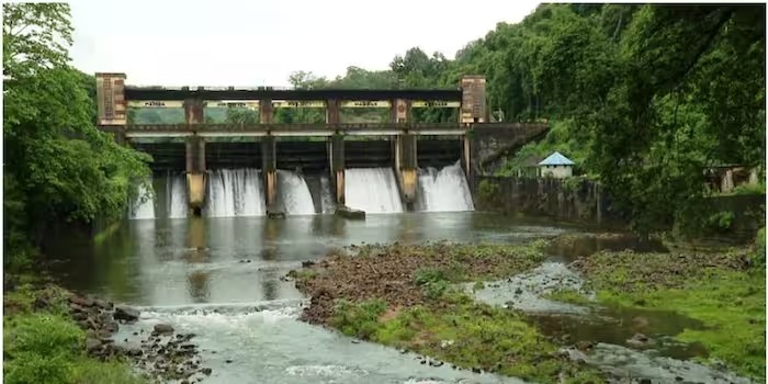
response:
<path id="1" fill-rule="evenodd" d="M 710 358 L 764 382 L 766 274 L 765 264 L 747 262 L 754 259 L 747 248 L 700 253 L 598 252 L 575 267 L 602 304 L 676 310 L 703 321 L 705 329 L 688 329 L 677 338 L 703 343 Z M 556 296 L 583 301 L 574 293 Z"/>

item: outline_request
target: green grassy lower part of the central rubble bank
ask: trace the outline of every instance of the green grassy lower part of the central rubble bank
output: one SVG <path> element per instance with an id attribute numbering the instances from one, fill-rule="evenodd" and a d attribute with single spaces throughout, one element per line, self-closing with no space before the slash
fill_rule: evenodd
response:
<path id="1" fill-rule="evenodd" d="M 571 383 L 602 382 L 597 371 L 558 357 L 557 347 L 518 314 L 474 303 L 458 292 L 447 292 L 433 305 L 405 309 L 387 308 L 383 301 L 340 301 L 332 325 L 346 335 L 464 369 L 482 368 L 540 383 L 556 382 L 560 372 Z"/>

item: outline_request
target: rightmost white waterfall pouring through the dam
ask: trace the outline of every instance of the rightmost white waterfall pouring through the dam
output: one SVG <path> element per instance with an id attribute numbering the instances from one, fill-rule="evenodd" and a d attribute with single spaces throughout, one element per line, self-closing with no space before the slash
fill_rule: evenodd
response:
<path id="1" fill-rule="evenodd" d="M 416 193 L 416 210 L 426 212 L 474 211 L 470 184 L 461 163 L 441 170 L 429 167 L 419 169 L 419 191 Z"/>

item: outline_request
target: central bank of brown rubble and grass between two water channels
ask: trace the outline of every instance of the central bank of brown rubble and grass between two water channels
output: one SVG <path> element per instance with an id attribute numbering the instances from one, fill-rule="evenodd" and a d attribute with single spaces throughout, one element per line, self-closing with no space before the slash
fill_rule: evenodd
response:
<path id="1" fill-rule="evenodd" d="M 459 368 L 541 383 L 601 382 L 596 371 L 561 357 L 521 315 L 454 289 L 529 270 L 543 260 L 544 246 L 366 246 L 293 275 L 313 297 L 303 315 L 309 323 Z"/>

